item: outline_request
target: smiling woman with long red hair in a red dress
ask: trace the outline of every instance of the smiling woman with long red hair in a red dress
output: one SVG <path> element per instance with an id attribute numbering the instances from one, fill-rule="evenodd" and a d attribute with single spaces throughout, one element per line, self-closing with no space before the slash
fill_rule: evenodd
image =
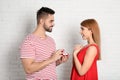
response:
<path id="1" fill-rule="evenodd" d="M 98 80 L 97 60 L 100 59 L 100 31 L 95 19 L 81 22 L 85 46 L 76 45 L 73 51 L 71 80 Z"/>

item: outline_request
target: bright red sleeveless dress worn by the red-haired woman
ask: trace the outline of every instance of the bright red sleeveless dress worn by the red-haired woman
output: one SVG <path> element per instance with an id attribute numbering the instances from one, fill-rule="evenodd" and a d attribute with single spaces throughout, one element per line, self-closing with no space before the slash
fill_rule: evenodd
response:
<path id="1" fill-rule="evenodd" d="M 89 46 L 82 48 L 79 51 L 77 57 L 78 57 L 80 63 L 83 64 L 86 51 L 90 46 L 95 46 L 97 48 L 97 55 L 91 65 L 90 69 L 85 73 L 85 75 L 80 76 L 76 70 L 74 63 L 73 63 L 72 72 L 71 72 L 71 80 L 98 80 L 98 73 L 97 73 L 97 59 L 98 59 L 98 54 L 99 54 L 98 46 L 95 44 L 90 44 Z"/>

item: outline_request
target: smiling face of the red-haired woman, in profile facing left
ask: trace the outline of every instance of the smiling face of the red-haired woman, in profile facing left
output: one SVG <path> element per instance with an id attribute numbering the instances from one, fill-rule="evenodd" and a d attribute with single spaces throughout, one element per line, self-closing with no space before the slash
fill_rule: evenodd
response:
<path id="1" fill-rule="evenodd" d="M 89 30 L 87 27 L 81 26 L 81 36 L 83 40 L 88 40 L 88 38 L 91 36 L 91 30 Z"/>

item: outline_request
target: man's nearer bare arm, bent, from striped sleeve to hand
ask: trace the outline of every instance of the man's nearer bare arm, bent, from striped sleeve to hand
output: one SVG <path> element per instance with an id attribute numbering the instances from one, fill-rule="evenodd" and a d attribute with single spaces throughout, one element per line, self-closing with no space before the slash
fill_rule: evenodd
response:
<path id="1" fill-rule="evenodd" d="M 35 62 L 34 59 L 30 59 L 30 58 L 22 58 L 22 64 L 23 64 L 25 72 L 27 74 L 31 74 L 31 73 L 37 72 L 37 71 L 45 68 L 46 66 L 57 61 L 61 57 L 62 57 L 61 50 L 58 50 L 50 58 L 48 58 L 42 62 Z"/>

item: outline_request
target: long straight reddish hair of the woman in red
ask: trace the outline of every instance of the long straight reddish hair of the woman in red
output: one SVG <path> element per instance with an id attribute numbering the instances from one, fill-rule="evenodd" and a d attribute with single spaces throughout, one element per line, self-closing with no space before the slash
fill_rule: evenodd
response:
<path id="1" fill-rule="evenodd" d="M 99 50 L 100 50 L 100 42 L 101 42 L 100 41 L 100 30 L 99 30 L 97 21 L 95 19 L 86 19 L 81 22 L 81 26 L 84 26 L 92 31 L 93 40 L 99 46 Z M 99 60 L 100 59 L 101 59 L 101 55 L 99 53 Z"/>

